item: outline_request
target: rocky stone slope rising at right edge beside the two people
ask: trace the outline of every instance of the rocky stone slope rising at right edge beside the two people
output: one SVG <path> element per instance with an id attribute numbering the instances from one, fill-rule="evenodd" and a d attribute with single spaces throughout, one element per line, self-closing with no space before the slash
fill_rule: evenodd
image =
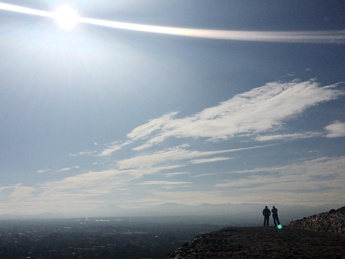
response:
<path id="1" fill-rule="evenodd" d="M 289 226 L 345 237 L 345 207 L 291 221 Z"/>

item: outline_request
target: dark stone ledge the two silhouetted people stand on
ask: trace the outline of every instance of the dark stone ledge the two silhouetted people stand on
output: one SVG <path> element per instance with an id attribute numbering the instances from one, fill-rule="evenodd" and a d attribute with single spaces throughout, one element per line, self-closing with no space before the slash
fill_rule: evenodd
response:
<path id="1" fill-rule="evenodd" d="M 290 226 L 225 228 L 201 234 L 168 259 L 345 259 L 345 237 Z"/>

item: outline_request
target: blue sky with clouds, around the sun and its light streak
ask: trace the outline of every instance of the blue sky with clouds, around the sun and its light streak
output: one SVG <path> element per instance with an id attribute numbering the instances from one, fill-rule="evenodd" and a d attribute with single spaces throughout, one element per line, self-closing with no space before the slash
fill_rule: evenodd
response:
<path id="1" fill-rule="evenodd" d="M 236 31 L 344 30 L 342 1 L 6 1 Z M 288 38 L 287 40 L 288 41 Z M 342 203 L 344 33 L 194 38 L 0 10 L 0 210 Z"/>

